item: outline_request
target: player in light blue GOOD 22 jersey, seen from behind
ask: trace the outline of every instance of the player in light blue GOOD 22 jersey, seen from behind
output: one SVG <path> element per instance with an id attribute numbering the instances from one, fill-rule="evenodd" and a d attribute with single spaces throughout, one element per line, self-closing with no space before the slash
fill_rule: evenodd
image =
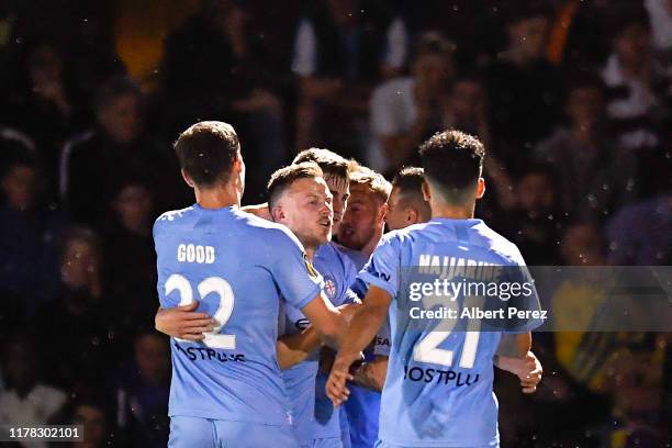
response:
<path id="1" fill-rule="evenodd" d="M 171 340 L 169 446 L 295 447 L 277 359 L 280 294 L 329 344 L 344 317 L 296 237 L 239 210 L 245 164 L 231 125 L 197 123 L 175 149 L 197 203 L 155 223 L 159 300 L 198 300 L 214 328 L 201 343 Z"/>

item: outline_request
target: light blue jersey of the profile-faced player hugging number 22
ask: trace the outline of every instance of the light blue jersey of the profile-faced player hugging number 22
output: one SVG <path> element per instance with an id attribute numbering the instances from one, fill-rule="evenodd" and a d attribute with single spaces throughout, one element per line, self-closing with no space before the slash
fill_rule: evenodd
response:
<path id="1" fill-rule="evenodd" d="M 351 261 L 334 247 L 333 243 L 323 244 L 315 251 L 313 266 L 324 279 L 324 293 L 335 305 L 352 303 L 357 298 L 350 291 L 350 283 L 355 281 L 357 270 Z M 294 306 L 283 304 L 280 323 L 280 335 L 291 335 L 304 331 L 310 322 L 305 315 Z M 316 377 L 320 363 L 320 350 L 295 366 L 282 371 L 287 393 L 292 406 L 296 437 L 302 444 L 309 444 L 315 438 L 338 437 L 337 415 L 335 423 L 329 424 L 334 406 L 326 396 L 325 390 L 316 387 Z M 325 406 L 331 407 L 328 416 Z M 322 412 L 316 415 L 317 412 Z M 337 414 L 337 413 L 336 413 Z M 331 427 L 335 426 L 335 430 Z"/>

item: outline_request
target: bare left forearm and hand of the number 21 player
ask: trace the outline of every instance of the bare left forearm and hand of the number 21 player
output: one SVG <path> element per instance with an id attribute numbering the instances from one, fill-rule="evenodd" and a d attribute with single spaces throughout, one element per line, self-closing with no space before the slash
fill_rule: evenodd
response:
<path id="1" fill-rule="evenodd" d="M 390 293 L 371 284 L 332 366 L 326 390 L 334 405 L 347 399 L 349 391 L 345 384 L 347 380 L 354 379 L 349 373 L 350 365 L 359 358 L 359 352 L 371 343 L 382 326 L 391 301 Z"/>

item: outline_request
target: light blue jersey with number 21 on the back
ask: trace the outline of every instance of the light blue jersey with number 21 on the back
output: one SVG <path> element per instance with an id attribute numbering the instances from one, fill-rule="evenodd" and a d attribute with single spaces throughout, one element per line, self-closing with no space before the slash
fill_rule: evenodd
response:
<path id="1" fill-rule="evenodd" d="M 411 324 L 397 316 L 408 309 L 407 303 L 401 303 L 408 300 L 401 290 L 407 287 L 402 285 L 404 269 L 427 260 L 436 261 L 439 268 L 524 266 L 517 247 L 481 220 L 433 219 L 382 238 L 359 275 L 392 296 L 392 348 L 379 438 L 414 447 L 494 445 L 499 433 L 492 359 L 501 332 L 440 332 L 436 327 L 443 321 Z M 536 291 L 533 295 L 531 302 L 538 306 Z M 421 344 L 422 350 L 416 349 Z M 448 351 L 450 357 L 445 356 Z"/>

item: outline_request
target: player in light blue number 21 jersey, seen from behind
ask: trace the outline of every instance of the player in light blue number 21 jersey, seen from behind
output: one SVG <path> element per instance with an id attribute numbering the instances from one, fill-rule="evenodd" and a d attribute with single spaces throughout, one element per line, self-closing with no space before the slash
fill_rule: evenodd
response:
<path id="1" fill-rule="evenodd" d="M 400 269 L 418 266 L 421 255 L 443 262 L 456 254 L 470 261 L 524 266 L 512 243 L 473 219 L 484 193 L 484 148 L 457 131 L 437 134 L 421 147 L 425 197 L 433 219 L 385 235 L 360 279 L 369 283 L 334 361 L 327 394 L 336 405 L 347 399 L 348 370 L 390 312 L 392 349 L 382 392 L 377 447 L 485 447 L 499 445 L 497 404 L 492 392 L 495 354 L 523 358 L 531 344 L 523 333 L 438 332 L 422 321 L 417 331 L 400 326 L 404 298 Z M 536 292 L 533 302 L 538 305 Z M 390 306 L 392 301 L 394 306 Z M 422 381 L 408 372 L 422 373 Z M 438 374 L 438 371 L 445 372 Z M 437 373 L 437 374 L 434 374 Z M 462 378 L 462 382 L 456 381 Z M 467 380 L 464 382 L 464 380 Z"/>

